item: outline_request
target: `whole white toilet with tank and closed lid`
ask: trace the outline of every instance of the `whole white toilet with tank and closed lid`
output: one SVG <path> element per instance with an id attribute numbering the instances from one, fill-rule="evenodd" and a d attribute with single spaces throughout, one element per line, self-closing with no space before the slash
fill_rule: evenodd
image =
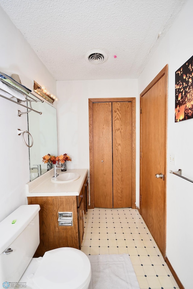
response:
<path id="1" fill-rule="evenodd" d="M 63 247 L 32 258 L 40 243 L 39 210 L 23 205 L 0 222 L 0 287 L 87 289 L 90 261 L 80 250 Z"/>

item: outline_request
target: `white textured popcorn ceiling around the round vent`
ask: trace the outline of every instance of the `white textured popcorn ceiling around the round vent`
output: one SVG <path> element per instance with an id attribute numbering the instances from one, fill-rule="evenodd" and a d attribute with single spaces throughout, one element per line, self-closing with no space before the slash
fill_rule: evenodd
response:
<path id="1" fill-rule="evenodd" d="M 137 78 L 185 2 L 0 0 L 0 5 L 56 80 L 89 80 Z M 108 60 L 88 63 L 85 54 L 92 49 L 105 51 Z"/>

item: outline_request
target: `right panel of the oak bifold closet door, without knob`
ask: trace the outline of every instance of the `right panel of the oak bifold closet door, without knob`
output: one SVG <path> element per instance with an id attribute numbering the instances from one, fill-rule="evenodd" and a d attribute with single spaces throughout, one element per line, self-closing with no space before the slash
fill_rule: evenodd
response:
<path id="1" fill-rule="evenodd" d="M 113 208 L 131 207 L 132 104 L 112 103 Z"/>

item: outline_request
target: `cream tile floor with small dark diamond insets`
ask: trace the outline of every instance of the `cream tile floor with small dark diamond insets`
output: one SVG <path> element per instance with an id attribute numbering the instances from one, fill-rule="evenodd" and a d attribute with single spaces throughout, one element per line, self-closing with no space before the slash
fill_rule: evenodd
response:
<path id="1" fill-rule="evenodd" d="M 179 289 L 138 210 L 94 208 L 84 222 L 85 254 L 129 254 L 141 289 Z"/>

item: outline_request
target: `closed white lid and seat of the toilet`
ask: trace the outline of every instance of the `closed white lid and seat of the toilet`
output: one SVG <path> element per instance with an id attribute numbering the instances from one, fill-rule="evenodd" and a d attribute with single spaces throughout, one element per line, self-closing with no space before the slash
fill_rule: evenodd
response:
<path id="1" fill-rule="evenodd" d="M 44 254 L 33 282 L 40 289 L 84 289 L 90 278 L 88 257 L 78 249 L 63 247 Z"/>

